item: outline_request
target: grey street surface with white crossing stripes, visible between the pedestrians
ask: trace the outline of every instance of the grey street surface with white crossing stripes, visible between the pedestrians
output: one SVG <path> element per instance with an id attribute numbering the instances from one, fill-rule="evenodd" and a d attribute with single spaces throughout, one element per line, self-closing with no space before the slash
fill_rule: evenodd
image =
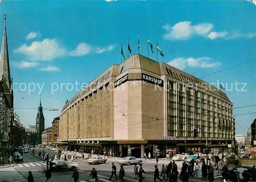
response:
<path id="1" fill-rule="evenodd" d="M 35 150 L 35 155 L 38 156 L 38 151 Z M 55 154 L 55 151 L 51 150 L 46 150 L 45 152 L 48 152 L 49 154 Z M 27 176 L 28 176 L 28 171 L 32 171 L 32 174 L 34 176 L 35 181 L 42 181 L 45 180 L 45 173 L 42 171 L 42 168 L 46 165 L 42 163 L 42 160 L 40 160 L 37 156 L 33 156 L 31 153 L 25 153 L 24 154 L 24 161 L 17 163 L 15 167 L 7 168 L 0 170 L 0 181 L 27 181 Z M 105 164 L 99 164 L 99 165 L 89 165 L 85 160 L 82 160 L 81 158 L 78 157 L 77 163 L 79 164 L 78 172 L 79 172 L 79 181 L 84 182 L 84 181 L 92 181 L 92 178 L 89 177 L 92 168 L 95 168 L 96 171 L 98 172 L 98 178 L 99 181 L 103 182 L 109 182 L 109 178 L 111 176 L 111 166 L 112 162 L 115 163 L 117 167 L 117 175 L 118 171 L 120 169 L 120 165 L 117 163 L 117 157 L 111 157 L 108 158 L 108 161 Z M 167 165 L 169 163 L 168 160 L 159 160 L 158 168 L 159 171 L 161 171 L 161 166 L 162 164 Z M 178 170 L 181 169 L 182 162 L 176 162 L 178 165 Z M 145 181 L 146 182 L 151 182 L 154 181 L 154 166 L 156 165 L 155 159 L 148 160 L 143 162 L 142 167 L 146 172 L 145 175 Z M 130 166 L 124 166 L 125 170 L 125 179 L 126 181 L 137 181 L 137 178 L 134 176 L 134 165 Z M 2 171 L 4 172 L 4 175 L 2 174 Z M 72 181 L 71 176 L 72 176 L 73 171 L 61 171 L 61 172 L 52 172 L 52 178 L 49 181 L 63 181 L 63 182 L 70 182 Z M 200 173 L 201 174 L 201 173 Z M 199 176 L 201 176 L 199 174 Z M 8 177 L 8 178 L 7 178 Z M 221 174 L 216 171 L 215 172 L 215 178 L 216 181 L 218 179 L 221 179 Z M 17 180 L 18 179 L 18 180 Z M 113 178 L 113 181 L 115 180 L 115 177 Z M 200 181 L 199 179 L 191 178 L 190 181 Z"/>

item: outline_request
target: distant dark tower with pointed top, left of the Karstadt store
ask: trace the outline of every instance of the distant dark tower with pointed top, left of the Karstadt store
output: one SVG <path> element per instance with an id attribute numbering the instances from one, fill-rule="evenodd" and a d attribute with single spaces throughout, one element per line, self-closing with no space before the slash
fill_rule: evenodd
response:
<path id="1" fill-rule="evenodd" d="M 36 116 L 36 130 L 37 130 L 37 144 L 41 144 L 42 143 L 42 132 L 45 130 L 45 117 L 44 117 L 44 113 L 42 113 L 42 103 L 41 103 L 41 97 L 40 97 L 40 103 L 39 103 L 39 107 L 38 107 L 38 112 L 37 112 L 37 116 Z"/>

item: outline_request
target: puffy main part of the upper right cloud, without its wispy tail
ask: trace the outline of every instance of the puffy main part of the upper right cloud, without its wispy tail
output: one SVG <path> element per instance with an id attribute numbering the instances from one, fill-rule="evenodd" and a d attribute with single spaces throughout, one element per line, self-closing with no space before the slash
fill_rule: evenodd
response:
<path id="1" fill-rule="evenodd" d="M 181 21 L 173 27 L 165 25 L 163 28 L 167 33 L 163 36 L 165 39 L 188 39 L 194 34 L 205 36 L 214 26 L 212 24 L 191 25 L 190 21 Z"/>

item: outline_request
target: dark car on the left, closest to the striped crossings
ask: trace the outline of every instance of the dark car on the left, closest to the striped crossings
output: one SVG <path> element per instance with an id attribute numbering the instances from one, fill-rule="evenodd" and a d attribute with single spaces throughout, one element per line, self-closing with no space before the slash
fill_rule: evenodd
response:
<path id="1" fill-rule="evenodd" d="M 53 161 L 51 163 L 51 171 L 74 170 L 79 167 L 78 163 L 67 161 Z M 46 166 L 43 167 L 46 170 Z"/>

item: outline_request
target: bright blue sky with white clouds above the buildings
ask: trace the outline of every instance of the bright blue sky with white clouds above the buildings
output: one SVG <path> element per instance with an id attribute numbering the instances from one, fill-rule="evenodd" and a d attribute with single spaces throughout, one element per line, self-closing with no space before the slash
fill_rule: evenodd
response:
<path id="1" fill-rule="evenodd" d="M 127 37 L 132 52 L 137 53 L 137 31 L 140 54 L 147 55 L 148 36 L 164 52 L 159 61 L 199 78 L 255 59 L 255 8 L 247 1 L 4 0 L 0 19 L 4 22 L 7 14 L 11 74 L 20 85 L 14 89 L 23 90 L 26 85 L 26 93 L 14 93 L 15 111 L 26 126 L 35 124 L 41 94 L 46 127 L 51 126 L 59 111 L 47 108 L 62 108 L 77 93 L 66 85 L 61 90 L 60 84 L 89 83 L 113 63 L 120 63 L 120 44 L 126 56 Z M 0 24 L 1 31 L 3 26 Z M 150 53 L 150 58 L 156 59 L 156 55 Z M 252 105 L 256 103 L 255 65 L 250 61 L 202 79 L 208 83 L 219 80 L 229 88 L 236 81 L 246 83 L 246 91 L 239 84 L 239 90 L 226 90 L 226 94 L 234 107 Z M 44 86 L 40 93 L 36 85 L 28 94 L 29 83 Z M 56 92 L 52 92 L 53 83 L 59 85 Z M 255 110 L 255 106 L 234 109 L 234 115 Z M 245 133 L 255 117 L 237 116 L 237 133 Z"/>

